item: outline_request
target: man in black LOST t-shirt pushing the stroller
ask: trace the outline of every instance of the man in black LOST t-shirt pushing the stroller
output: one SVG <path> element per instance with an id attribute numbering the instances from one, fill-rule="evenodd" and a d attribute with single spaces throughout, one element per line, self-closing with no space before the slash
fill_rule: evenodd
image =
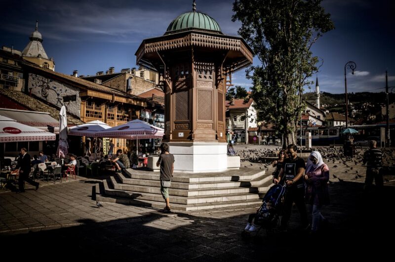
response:
<path id="1" fill-rule="evenodd" d="M 297 156 L 296 150 L 298 147 L 290 144 L 287 147 L 288 158 L 284 160 L 283 166 L 278 174 L 275 183 L 281 179 L 285 180 L 287 192 L 284 200 L 284 215 L 281 218 L 281 229 L 286 230 L 289 217 L 291 216 L 292 203 L 295 202 L 296 207 L 300 213 L 300 220 L 303 228 L 309 227 L 307 221 L 307 212 L 305 206 L 305 186 L 303 175 L 306 170 L 306 163 L 303 159 Z"/>

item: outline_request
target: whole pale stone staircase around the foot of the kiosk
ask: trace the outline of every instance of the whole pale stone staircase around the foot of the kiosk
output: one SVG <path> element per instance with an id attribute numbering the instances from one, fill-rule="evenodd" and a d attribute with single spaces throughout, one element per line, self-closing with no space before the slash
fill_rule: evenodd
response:
<path id="1" fill-rule="evenodd" d="M 174 173 L 169 188 L 174 210 L 203 210 L 236 206 L 260 206 L 263 194 L 272 185 L 265 171 L 240 168 L 223 173 Z M 103 180 L 96 200 L 163 208 L 157 172 L 126 170 Z"/>

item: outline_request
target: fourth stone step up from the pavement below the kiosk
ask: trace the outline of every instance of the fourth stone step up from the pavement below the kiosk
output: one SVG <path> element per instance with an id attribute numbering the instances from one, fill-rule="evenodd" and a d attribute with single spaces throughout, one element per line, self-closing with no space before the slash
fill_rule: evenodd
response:
<path id="1" fill-rule="evenodd" d="M 149 187 L 160 187 L 160 180 L 152 179 L 138 179 L 129 178 L 121 173 L 117 173 L 118 179 L 125 185 L 136 185 L 136 186 L 149 186 Z M 171 181 L 171 188 L 175 189 L 202 189 L 202 188 L 223 188 L 223 187 L 244 187 L 244 186 L 258 186 L 265 181 L 272 179 L 272 176 L 261 175 L 252 180 L 240 180 L 240 181 L 218 181 L 218 182 L 197 182 L 197 183 L 185 183 Z"/>

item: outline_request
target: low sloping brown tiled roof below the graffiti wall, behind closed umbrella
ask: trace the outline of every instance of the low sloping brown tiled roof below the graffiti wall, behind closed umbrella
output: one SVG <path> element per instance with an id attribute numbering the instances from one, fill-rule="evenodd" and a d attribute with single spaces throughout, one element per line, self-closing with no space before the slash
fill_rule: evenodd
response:
<path id="1" fill-rule="evenodd" d="M 59 121 L 59 108 L 52 107 L 44 102 L 41 102 L 37 98 L 24 94 L 20 91 L 13 91 L 8 89 L 0 88 L 0 93 L 4 96 L 7 96 L 9 99 L 15 101 L 15 103 L 21 104 L 29 110 L 38 111 L 38 112 L 47 112 L 51 117 Z M 67 114 L 67 124 L 68 126 L 77 126 L 84 124 L 81 120 L 76 117 Z"/>

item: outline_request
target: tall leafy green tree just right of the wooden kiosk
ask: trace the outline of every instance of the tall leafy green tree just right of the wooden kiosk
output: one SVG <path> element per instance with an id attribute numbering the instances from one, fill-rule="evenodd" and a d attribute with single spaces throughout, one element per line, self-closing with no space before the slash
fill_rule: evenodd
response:
<path id="1" fill-rule="evenodd" d="M 311 47 L 334 28 L 320 0 L 235 0 L 233 21 L 238 34 L 261 62 L 246 75 L 253 82 L 251 97 L 258 118 L 283 135 L 283 147 L 296 144 L 296 125 L 305 105 L 302 93 L 312 83 L 318 58 Z"/>

